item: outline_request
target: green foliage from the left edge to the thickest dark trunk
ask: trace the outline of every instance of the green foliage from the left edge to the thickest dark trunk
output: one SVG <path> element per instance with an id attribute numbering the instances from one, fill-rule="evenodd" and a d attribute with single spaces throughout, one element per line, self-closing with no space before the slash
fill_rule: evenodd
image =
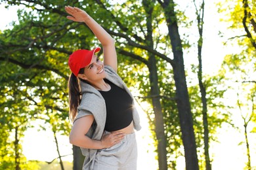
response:
<path id="1" fill-rule="evenodd" d="M 51 124 L 53 131 L 68 134 L 70 130 L 66 90 L 70 73 L 67 65 L 68 55 L 78 48 L 97 46 L 98 42 L 85 25 L 66 20 L 65 5 L 83 7 L 100 25 L 112 33 L 118 47 L 119 74 L 134 92 L 138 90 L 139 93 L 135 98 L 140 103 L 147 105 L 152 103 L 149 70 L 146 67 L 148 51 L 140 46 L 146 46 L 144 40 L 148 31 L 152 31 L 154 49 L 166 55 L 171 54 L 171 42 L 167 31 L 163 31 L 166 22 L 159 3 L 147 1 L 148 9 L 144 9 L 141 1 L 125 1 L 112 5 L 108 1 L 102 1 L 100 4 L 95 1 L 73 3 L 73 1 L 49 0 L 8 1 L 8 3 L 20 5 L 24 9 L 18 10 L 19 23 L 0 35 L 0 64 L 8 67 L 7 70 L 4 69 L 5 67 L 0 68 L 1 95 L 3 95 L 1 98 L 4 103 L 1 107 L 5 110 L 1 112 L 0 119 L 3 125 L 10 126 L 9 129 L 19 127 L 19 134 L 23 134 L 31 126 L 31 121 L 41 119 L 45 124 Z M 146 10 L 150 7 L 154 7 L 152 30 L 147 30 Z M 179 19 L 182 18 L 184 24 L 186 23 L 183 12 L 177 10 L 177 16 Z M 188 46 L 185 42 L 187 41 L 184 40 L 184 46 Z M 133 46 L 134 43 L 138 44 L 137 47 Z M 137 60 L 133 55 L 123 54 L 123 51 L 140 58 Z M 173 73 L 169 63 L 160 58 L 156 59 L 167 136 L 167 156 L 170 166 L 175 167 L 175 160 L 181 155 L 182 142 L 177 107 L 173 99 L 175 95 Z M 154 129 L 152 104 L 145 108 L 145 111 Z M 10 133 L 11 130 L 5 133 L 5 139 L 9 138 Z M 156 134 L 154 137 L 156 139 Z"/>

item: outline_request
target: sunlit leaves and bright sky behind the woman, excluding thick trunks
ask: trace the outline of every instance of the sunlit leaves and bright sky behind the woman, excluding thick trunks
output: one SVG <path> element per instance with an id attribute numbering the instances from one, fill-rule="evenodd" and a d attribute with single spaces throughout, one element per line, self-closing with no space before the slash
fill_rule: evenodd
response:
<path id="1" fill-rule="evenodd" d="M 143 128 L 137 133 L 138 169 L 158 169 L 158 152 L 154 152 L 158 139 L 154 133 L 154 109 L 148 91 L 149 71 L 142 64 L 142 59 L 148 59 L 148 53 L 151 51 L 140 46 L 132 47 L 126 42 L 127 39 L 137 41 L 132 37 L 136 31 L 142 39 L 148 33 L 145 29 L 146 6 L 142 5 L 142 1 L 104 1 L 106 9 L 111 10 L 104 10 L 100 1 L 55 1 L 54 4 L 50 1 L 7 2 L 1 1 L 0 118 L 3 135 L 0 143 L 2 150 L 0 167 L 36 169 L 40 168 L 37 165 L 41 165 L 45 166 L 45 169 L 53 169 L 54 166 L 60 169 L 60 159 L 56 159 L 58 154 L 63 156 L 62 161 L 73 159 L 72 146 L 68 143 L 68 131 L 71 125 L 67 118 L 67 97 L 64 96 L 66 92 L 61 92 L 66 89 L 65 77 L 70 73 L 65 59 L 68 59 L 68 52 L 76 48 L 81 46 L 91 48 L 98 44 L 85 25 L 68 23 L 65 19 L 64 5 L 75 5 L 84 8 L 106 29 L 113 31 L 112 36 L 119 45 L 117 49 L 117 52 L 120 52 L 119 71 L 123 71 L 119 74 L 127 77 L 124 79 L 137 99 L 137 107 L 141 115 Z M 152 1 L 143 2 L 152 3 Z M 196 16 L 196 9 L 202 12 L 200 6 L 202 2 L 175 1 L 175 14 L 182 39 L 184 70 L 190 94 L 198 160 L 200 169 L 205 169 L 202 103 L 198 85 L 200 35 Z M 249 4 L 247 9 L 244 8 L 244 2 Z M 212 169 L 255 169 L 255 46 L 253 46 L 255 25 L 251 22 L 255 20 L 255 1 L 205 1 L 204 3 L 201 23 L 203 24 L 202 73 L 203 84 L 207 89 L 208 127 L 211 129 L 209 131 L 211 167 Z M 163 9 L 158 1 L 152 6 L 154 15 L 157 16 L 152 22 L 154 50 L 173 59 Z M 251 37 L 247 36 L 248 33 L 243 25 L 244 9 L 248 11 L 245 24 Z M 112 12 L 120 18 L 119 22 L 127 27 L 127 39 L 118 37 L 117 31 L 120 26 L 112 25 L 112 22 L 106 18 L 109 17 L 109 13 L 104 12 Z M 200 17 L 202 18 L 202 13 Z M 140 22 L 135 24 L 135 21 Z M 58 32 L 62 26 L 65 29 Z M 40 36 L 46 37 L 45 40 Z M 54 49 L 44 47 L 45 44 L 53 46 Z M 145 45 L 143 42 L 139 44 Z M 141 61 L 132 59 L 130 54 L 129 56 L 123 52 L 123 49 L 141 56 Z M 163 96 L 160 100 L 161 108 L 163 113 L 166 113 L 163 115 L 166 116 L 165 135 L 167 141 L 169 140 L 167 164 L 169 169 L 185 169 L 178 110 L 172 99 L 175 96 L 172 67 L 167 63 L 168 60 L 164 61 L 157 55 L 155 58 Z M 24 65 L 29 66 L 24 67 Z M 61 88 L 56 90 L 54 86 Z M 56 109 L 56 107 L 60 108 Z M 62 111 L 65 114 L 61 116 Z M 169 112 L 173 114 L 168 114 Z M 174 124 L 173 127 L 170 124 Z M 172 136 L 175 138 L 173 139 Z M 58 139 L 59 153 L 55 139 Z M 53 160 L 54 162 L 49 165 L 44 163 Z M 72 163 L 64 164 L 64 169 L 72 169 Z"/>

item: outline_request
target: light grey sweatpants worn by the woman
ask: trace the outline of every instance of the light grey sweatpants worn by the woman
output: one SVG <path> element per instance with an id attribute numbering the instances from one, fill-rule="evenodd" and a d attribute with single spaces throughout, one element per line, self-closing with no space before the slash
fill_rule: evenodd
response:
<path id="1" fill-rule="evenodd" d="M 125 135 L 116 145 L 98 150 L 94 170 L 136 170 L 137 142 L 135 133 Z"/>

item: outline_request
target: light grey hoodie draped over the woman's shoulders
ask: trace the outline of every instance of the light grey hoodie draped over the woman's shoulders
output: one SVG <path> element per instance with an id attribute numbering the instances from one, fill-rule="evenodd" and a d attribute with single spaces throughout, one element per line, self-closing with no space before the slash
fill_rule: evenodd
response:
<path id="1" fill-rule="evenodd" d="M 125 89 L 127 93 L 129 93 L 129 95 L 131 95 L 131 97 L 133 98 L 133 95 L 131 94 L 123 80 L 121 80 L 120 76 L 117 75 L 116 71 L 114 71 L 114 69 L 112 69 L 112 67 L 108 65 L 105 65 L 104 69 L 107 73 L 106 79 L 116 84 L 116 86 Z M 104 126 L 106 122 L 106 103 L 104 101 L 104 98 L 102 97 L 100 92 L 98 92 L 98 90 L 85 82 L 81 82 L 81 93 L 81 104 L 78 107 L 78 114 L 75 117 L 75 120 L 83 116 L 93 114 L 96 124 L 93 124 L 93 126 L 89 129 L 86 135 L 91 139 L 100 140 L 104 132 Z M 133 109 L 133 125 L 137 131 L 141 129 L 139 114 L 135 107 Z M 81 151 L 83 156 L 85 156 L 83 169 L 93 169 L 97 150 L 81 148 Z"/>

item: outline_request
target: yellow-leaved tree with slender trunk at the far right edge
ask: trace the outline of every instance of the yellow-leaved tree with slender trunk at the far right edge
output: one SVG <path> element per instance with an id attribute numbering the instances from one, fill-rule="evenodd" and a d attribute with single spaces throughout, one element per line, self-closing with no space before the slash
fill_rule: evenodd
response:
<path id="1" fill-rule="evenodd" d="M 245 147 L 247 150 L 247 169 L 251 169 L 250 147 L 249 147 L 249 127 L 248 124 L 253 124 L 255 127 L 255 54 L 256 54 L 256 24 L 255 24 L 255 5 L 253 1 L 237 1 L 237 3 L 228 3 L 228 10 L 224 12 L 223 7 L 220 11 L 225 13 L 226 22 L 230 22 L 230 30 L 235 31 L 237 35 L 230 37 L 226 44 L 235 44 L 242 50 L 234 54 L 228 54 L 223 61 L 223 69 L 226 71 L 226 77 L 233 83 L 232 90 L 237 93 L 236 103 L 233 108 L 238 110 L 244 122 Z M 221 4 L 219 4 L 221 5 Z M 244 35 L 240 35 L 245 33 Z M 232 75 L 236 76 L 229 76 Z M 241 127 L 238 127 L 241 128 Z M 253 128 L 252 128 L 253 129 Z M 253 130 L 252 130 L 253 132 Z"/>

